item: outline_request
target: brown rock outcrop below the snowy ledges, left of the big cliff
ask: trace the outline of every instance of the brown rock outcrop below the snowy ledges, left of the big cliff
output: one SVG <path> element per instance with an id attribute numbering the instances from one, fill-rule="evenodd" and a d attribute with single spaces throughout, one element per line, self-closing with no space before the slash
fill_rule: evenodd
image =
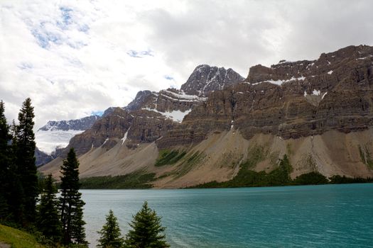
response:
<path id="1" fill-rule="evenodd" d="M 112 113 L 97 120 L 92 128 L 80 135 L 75 135 L 64 150 L 64 156 L 70 147 L 77 154 L 85 154 L 91 149 L 104 147 L 110 149 L 118 142 L 126 142 L 131 148 L 136 148 L 141 142 L 153 142 L 168 130 L 178 125 L 161 113 L 148 110 L 126 111 L 115 108 Z"/>

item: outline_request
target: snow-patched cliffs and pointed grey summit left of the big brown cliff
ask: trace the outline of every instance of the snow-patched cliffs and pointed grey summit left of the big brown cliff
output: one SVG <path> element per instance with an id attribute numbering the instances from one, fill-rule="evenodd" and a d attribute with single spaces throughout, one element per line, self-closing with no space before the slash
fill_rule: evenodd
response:
<path id="1" fill-rule="evenodd" d="M 209 80 L 201 81 L 205 76 Z M 203 65 L 195 69 L 182 89 L 205 84 L 202 92 L 207 94 L 225 84 L 234 84 L 241 80 L 243 78 L 232 69 Z M 102 119 L 97 120 L 92 128 L 73 137 L 64 154 L 70 147 L 75 147 L 77 154 L 84 154 L 92 148 L 102 146 L 109 149 L 122 142 L 124 135 L 126 145 L 131 148 L 136 148 L 140 143 L 158 140 L 180 125 L 185 115 L 207 100 L 206 97 L 189 94 L 190 92 L 192 91 L 187 93 L 178 89 L 139 91 L 128 106 L 108 108 Z"/>

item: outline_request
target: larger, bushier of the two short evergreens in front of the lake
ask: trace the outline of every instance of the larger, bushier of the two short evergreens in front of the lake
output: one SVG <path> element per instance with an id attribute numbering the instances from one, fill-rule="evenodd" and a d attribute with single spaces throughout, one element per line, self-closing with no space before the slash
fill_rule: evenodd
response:
<path id="1" fill-rule="evenodd" d="M 156 211 L 148 208 L 147 202 L 144 202 L 141 210 L 134 215 L 134 220 L 129 225 L 132 230 L 126 235 L 127 247 L 170 247 L 166 243 L 166 235 L 163 234 L 166 227 L 161 226 L 161 218 L 157 216 Z"/>

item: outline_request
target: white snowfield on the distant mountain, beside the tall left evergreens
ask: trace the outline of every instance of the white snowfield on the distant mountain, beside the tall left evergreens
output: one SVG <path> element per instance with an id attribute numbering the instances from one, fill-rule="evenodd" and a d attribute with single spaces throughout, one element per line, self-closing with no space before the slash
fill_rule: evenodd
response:
<path id="1" fill-rule="evenodd" d="M 83 132 L 84 130 L 38 130 L 35 134 L 36 147 L 50 154 L 56 147 L 67 147 L 72 137 Z"/>

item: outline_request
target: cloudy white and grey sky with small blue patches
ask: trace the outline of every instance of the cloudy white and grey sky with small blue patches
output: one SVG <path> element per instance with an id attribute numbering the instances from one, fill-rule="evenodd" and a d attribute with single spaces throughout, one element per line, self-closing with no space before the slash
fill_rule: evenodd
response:
<path id="1" fill-rule="evenodd" d="M 254 64 L 373 45 L 373 1 L 0 0 L 0 99 L 36 128 L 180 87 L 198 64 Z"/>

